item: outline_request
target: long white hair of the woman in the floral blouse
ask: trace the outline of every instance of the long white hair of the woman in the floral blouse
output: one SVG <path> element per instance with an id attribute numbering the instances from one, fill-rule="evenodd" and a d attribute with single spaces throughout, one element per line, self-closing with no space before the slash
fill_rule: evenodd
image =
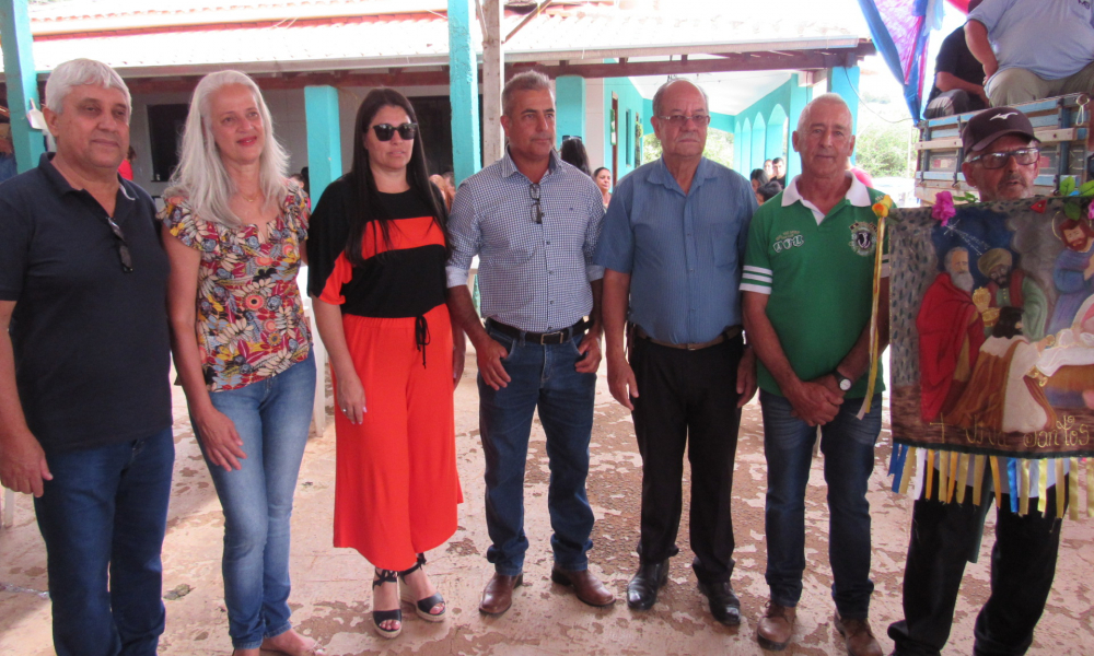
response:
<path id="1" fill-rule="evenodd" d="M 258 187 L 264 207 L 269 208 L 280 202 L 288 192 L 286 175 L 289 171 L 289 156 L 274 138 L 274 119 L 261 91 L 254 80 L 240 71 L 219 71 L 201 78 L 194 90 L 183 131 L 178 166 L 171 176 L 171 185 L 164 197 L 183 196 L 193 211 L 206 221 L 238 227 L 243 225 L 243 221 L 229 207 L 229 199 L 236 191 L 235 184 L 220 159 L 210 117 L 213 94 L 232 84 L 241 84 L 251 90 L 263 117 L 266 145 L 258 157 Z"/>

